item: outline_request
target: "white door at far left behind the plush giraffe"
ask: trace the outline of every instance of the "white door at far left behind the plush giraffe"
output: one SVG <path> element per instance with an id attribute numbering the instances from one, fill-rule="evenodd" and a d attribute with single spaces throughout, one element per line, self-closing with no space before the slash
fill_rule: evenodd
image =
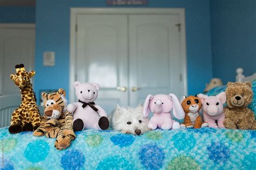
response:
<path id="1" fill-rule="evenodd" d="M 0 95 L 19 94 L 10 74 L 15 65 L 24 63 L 26 70 L 34 68 L 35 29 L 0 29 Z"/>

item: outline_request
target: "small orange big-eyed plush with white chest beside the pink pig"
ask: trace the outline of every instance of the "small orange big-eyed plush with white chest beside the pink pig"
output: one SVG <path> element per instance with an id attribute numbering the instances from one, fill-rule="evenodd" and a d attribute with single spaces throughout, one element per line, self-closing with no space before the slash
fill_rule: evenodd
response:
<path id="1" fill-rule="evenodd" d="M 203 122 L 199 115 L 199 110 L 202 107 L 202 103 L 197 96 L 183 96 L 181 106 L 185 112 L 184 122 L 181 123 L 181 128 L 203 128 L 208 126 L 208 123 Z"/>

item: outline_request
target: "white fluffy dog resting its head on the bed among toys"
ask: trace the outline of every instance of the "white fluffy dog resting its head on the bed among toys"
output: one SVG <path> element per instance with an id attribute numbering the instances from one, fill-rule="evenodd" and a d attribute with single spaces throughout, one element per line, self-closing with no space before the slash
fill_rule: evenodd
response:
<path id="1" fill-rule="evenodd" d="M 117 104 L 116 110 L 109 116 L 113 130 L 134 135 L 140 135 L 149 131 L 147 127 L 149 118 L 143 117 L 142 109 L 142 104 L 139 104 L 137 108 L 124 108 Z"/>

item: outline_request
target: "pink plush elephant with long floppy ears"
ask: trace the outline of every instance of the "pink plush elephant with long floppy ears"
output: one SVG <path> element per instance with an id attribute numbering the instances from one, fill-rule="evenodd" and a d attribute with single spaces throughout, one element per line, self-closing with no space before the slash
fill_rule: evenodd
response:
<path id="1" fill-rule="evenodd" d="M 171 117 L 170 111 L 172 109 L 174 117 L 177 119 L 184 118 L 184 110 L 176 95 L 147 95 L 143 106 L 143 115 L 148 117 L 150 111 L 153 112 L 153 116 L 147 126 L 152 130 L 157 129 L 157 127 L 164 130 L 179 129 L 180 124 Z"/>

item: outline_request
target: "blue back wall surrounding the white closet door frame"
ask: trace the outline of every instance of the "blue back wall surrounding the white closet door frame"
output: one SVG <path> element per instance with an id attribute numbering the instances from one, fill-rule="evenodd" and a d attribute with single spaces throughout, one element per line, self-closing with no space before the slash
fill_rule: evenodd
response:
<path id="1" fill-rule="evenodd" d="M 37 0 L 35 53 L 37 95 L 40 89 L 60 87 L 64 88 L 67 94 L 69 92 L 71 7 L 106 8 L 109 6 L 106 6 L 105 0 Z M 149 0 L 145 6 L 131 6 L 131 8 L 136 7 L 186 9 L 188 93 L 194 95 L 203 91 L 205 83 L 212 78 L 210 1 Z M 44 51 L 56 52 L 54 67 L 43 66 Z"/>

